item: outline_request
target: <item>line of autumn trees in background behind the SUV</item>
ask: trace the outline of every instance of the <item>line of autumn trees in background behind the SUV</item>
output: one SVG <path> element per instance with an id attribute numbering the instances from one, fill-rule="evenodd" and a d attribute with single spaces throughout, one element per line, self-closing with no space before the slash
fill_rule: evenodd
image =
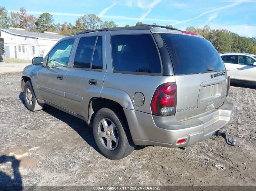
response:
<path id="1" fill-rule="evenodd" d="M 137 24 L 142 24 L 138 21 Z M 157 25 L 156 23 L 152 23 Z M 129 25 L 125 25 L 128 27 Z M 166 27 L 175 28 L 171 25 Z M 33 14 L 27 14 L 25 8 L 20 8 L 20 11 L 11 11 L 8 16 L 8 11 L 5 7 L 0 7 L 0 28 L 25 28 L 32 32 L 57 32 L 60 35 L 70 36 L 77 34 L 86 29 L 99 29 L 118 27 L 114 21 L 102 21 L 95 14 L 85 14 L 75 21 L 75 25 L 64 22 L 63 24 L 54 24 L 53 16 L 49 13 L 42 13 L 36 18 Z M 153 27 L 158 29 L 158 27 Z M 239 36 L 237 33 L 225 29 L 211 29 L 208 25 L 203 28 L 190 26 L 186 31 L 197 33 L 209 40 L 213 46 L 221 52 L 241 52 L 256 54 L 256 37 L 248 38 Z"/>

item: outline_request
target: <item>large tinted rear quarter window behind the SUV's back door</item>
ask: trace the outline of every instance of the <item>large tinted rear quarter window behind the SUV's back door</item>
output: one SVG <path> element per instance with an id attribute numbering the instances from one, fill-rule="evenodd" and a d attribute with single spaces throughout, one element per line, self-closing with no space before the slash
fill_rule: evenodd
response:
<path id="1" fill-rule="evenodd" d="M 161 64 L 150 34 L 111 37 L 115 71 L 161 73 Z"/>

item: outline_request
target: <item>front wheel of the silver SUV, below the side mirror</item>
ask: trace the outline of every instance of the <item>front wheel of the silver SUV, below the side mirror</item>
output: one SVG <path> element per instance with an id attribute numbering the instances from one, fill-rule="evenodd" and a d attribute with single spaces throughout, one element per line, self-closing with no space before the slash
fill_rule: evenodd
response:
<path id="1" fill-rule="evenodd" d="M 25 104 L 28 110 L 30 111 L 39 111 L 42 110 L 44 107 L 43 103 L 38 103 L 34 90 L 32 87 L 32 82 L 27 81 L 24 85 L 24 90 L 23 90 L 23 95 L 24 95 L 24 100 Z"/>

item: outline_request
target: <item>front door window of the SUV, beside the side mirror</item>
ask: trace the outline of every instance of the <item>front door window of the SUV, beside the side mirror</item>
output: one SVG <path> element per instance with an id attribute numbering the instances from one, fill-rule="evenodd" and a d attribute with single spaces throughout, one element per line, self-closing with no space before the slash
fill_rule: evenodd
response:
<path id="1" fill-rule="evenodd" d="M 74 39 L 64 40 L 58 43 L 49 53 L 46 65 L 67 67 L 73 43 Z"/>

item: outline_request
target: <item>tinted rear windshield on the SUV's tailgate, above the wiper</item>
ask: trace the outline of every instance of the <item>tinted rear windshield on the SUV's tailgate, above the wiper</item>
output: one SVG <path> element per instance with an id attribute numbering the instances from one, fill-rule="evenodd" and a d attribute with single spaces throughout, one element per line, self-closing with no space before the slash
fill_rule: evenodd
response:
<path id="1" fill-rule="evenodd" d="M 169 50 L 175 75 L 225 70 L 219 53 L 208 40 L 182 34 L 160 35 Z"/>

